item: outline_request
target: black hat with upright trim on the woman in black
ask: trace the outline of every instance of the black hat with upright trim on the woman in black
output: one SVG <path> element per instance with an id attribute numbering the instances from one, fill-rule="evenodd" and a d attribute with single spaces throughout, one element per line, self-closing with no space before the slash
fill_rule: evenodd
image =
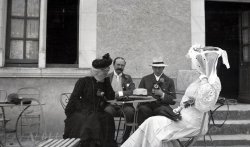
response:
<path id="1" fill-rule="evenodd" d="M 102 59 L 95 59 L 92 62 L 92 66 L 96 69 L 100 69 L 100 68 L 109 67 L 111 63 L 112 63 L 112 59 L 110 58 L 109 53 L 107 53 L 104 56 L 102 56 Z"/>

